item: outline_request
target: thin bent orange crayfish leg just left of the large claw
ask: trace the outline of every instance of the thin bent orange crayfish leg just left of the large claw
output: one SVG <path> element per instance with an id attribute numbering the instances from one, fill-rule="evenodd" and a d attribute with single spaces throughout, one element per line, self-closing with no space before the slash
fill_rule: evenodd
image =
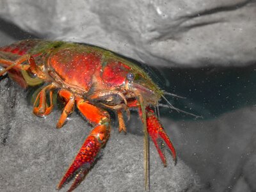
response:
<path id="1" fill-rule="evenodd" d="M 68 92 L 67 90 L 60 90 L 59 95 L 67 101 L 67 104 L 65 105 L 61 113 L 60 120 L 56 125 L 58 129 L 64 125 L 68 115 L 73 113 L 75 106 L 75 97 L 72 93 Z"/>

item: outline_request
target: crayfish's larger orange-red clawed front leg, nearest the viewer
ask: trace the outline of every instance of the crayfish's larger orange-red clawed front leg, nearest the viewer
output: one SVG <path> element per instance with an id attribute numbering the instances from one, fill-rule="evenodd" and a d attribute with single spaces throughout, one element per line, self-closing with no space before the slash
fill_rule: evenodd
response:
<path id="1" fill-rule="evenodd" d="M 60 189 L 72 175 L 78 172 L 76 179 L 68 191 L 75 189 L 84 179 L 86 173 L 90 170 L 90 167 L 97 158 L 100 148 L 106 144 L 110 135 L 108 112 L 93 106 L 90 102 L 81 98 L 76 98 L 76 104 L 79 111 L 81 111 L 91 124 L 96 124 L 96 126 L 84 141 L 73 163 L 57 186 L 57 189 Z"/>

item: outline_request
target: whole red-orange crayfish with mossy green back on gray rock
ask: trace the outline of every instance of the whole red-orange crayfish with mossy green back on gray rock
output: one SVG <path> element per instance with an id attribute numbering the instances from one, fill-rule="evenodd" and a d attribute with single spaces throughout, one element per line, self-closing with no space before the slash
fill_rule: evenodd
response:
<path id="1" fill-rule="evenodd" d="M 138 109 L 144 131 L 145 186 L 148 185 L 148 135 L 154 142 L 166 166 L 163 142 L 172 152 L 175 149 L 159 122 L 153 108 L 164 98 L 164 92 L 153 83 L 138 65 L 117 54 L 92 45 L 61 41 L 22 40 L 0 47 L 0 65 L 8 76 L 23 88 L 42 84 L 36 96 L 33 113 L 49 115 L 53 109 L 52 94 L 58 93 L 65 106 L 56 125 L 61 128 L 75 106 L 93 125 L 73 163 L 61 179 L 60 189 L 72 175 L 72 191 L 92 167 L 100 149 L 106 145 L 111 132 L 108 110 L 117 114 L 119 131 L 126 132 L 123 113 Z M 167 101 L 167 100 L 166 100 Z M 168 101 L 167 101 L 168 102 Z M 169 103 L 170 104 L 170 103 Z M 161 144 L 160 144 L 161 143 Z"/>

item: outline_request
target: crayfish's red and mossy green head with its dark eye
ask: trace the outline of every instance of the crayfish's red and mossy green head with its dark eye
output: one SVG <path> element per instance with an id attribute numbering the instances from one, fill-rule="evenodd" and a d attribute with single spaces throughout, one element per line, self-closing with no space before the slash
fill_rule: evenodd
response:
<path id="1" fill-rule="evenodd" d="M 102 64 L 103 70 L 101 79 L 102 82 L 107 85 L 106 89 L 111 90 L 108 96 L 115 94 L 118 96 L 115 98 L 120 100 L 120 102 L 122 102 L 122 100 L 140 100 L 140 97 L 143 99 L 145 106 L 157 105 L 158 100 L 163 95 L 163 91 L 158 88 L 141 67 L 135 63 L 116 57 L 113 54 L 105 57 L 104 62 L 102 61 L 106 64 Z M 99 86 L 99 88 L 101 88 L 101 86 Z M 112 92 L 112 94 L 110 92 Z M 115 92 L 118 92 L 118 94 Z M 106 93 L 104 93 L 104 95 L 106 95 Z M 125 98 L 120 98 L 120 95 L 124 95 Z M 119 104 L 112 98 L 113 97 L 109 98 L 112 102 L 111 105 Z"/>

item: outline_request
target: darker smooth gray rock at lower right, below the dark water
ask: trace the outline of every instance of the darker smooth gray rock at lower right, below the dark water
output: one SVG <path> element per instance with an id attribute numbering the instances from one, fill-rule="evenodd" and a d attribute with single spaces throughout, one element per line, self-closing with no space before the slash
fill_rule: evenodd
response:
<path id="1" fill-rule="evenodd" d="M 213 120 L 162 119 L 179 156 L 200 175 L 202 191 L 255 191 L 255 106 Z"/>

